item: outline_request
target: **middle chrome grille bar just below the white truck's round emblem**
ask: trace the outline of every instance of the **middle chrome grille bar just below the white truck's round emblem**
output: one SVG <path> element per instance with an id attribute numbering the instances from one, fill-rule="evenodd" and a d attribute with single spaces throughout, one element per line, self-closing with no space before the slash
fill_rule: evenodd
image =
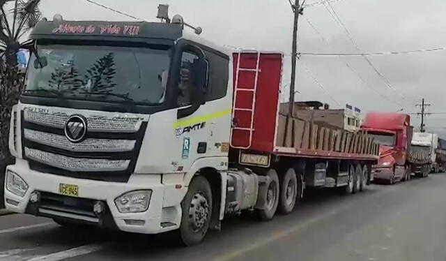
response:
<path id="1" fill-rule="evenodd" d="M 63 135 L 24 129 L 24 137 L 32 142 L 75 152 L 124 152 L 132 151 L 135 140 L 86 139 L 72 143 Z"/>

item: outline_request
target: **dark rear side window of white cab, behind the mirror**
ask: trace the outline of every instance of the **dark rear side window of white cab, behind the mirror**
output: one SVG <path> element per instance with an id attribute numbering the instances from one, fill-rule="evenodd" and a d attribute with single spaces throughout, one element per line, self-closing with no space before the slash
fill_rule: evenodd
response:
<path id="1" fill-rule="evenodd" d="M 208 94 L 206 100 L 217 100 L 226 96 L 229 77 L 229 59 L 205 51 L 209 63 Z"/>

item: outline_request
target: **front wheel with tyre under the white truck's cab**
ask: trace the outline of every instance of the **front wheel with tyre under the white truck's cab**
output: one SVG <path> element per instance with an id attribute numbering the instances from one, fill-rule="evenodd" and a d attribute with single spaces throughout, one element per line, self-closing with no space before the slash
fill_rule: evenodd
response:
<path id="1" fill-rule="evenodd" d="M 181 202 L 183 214 L 179 232 L 184 246 L 198 244 L 206 236 L 212 213 L 212 192 L 205 177 L 192 179 L 189 189 Z"/>

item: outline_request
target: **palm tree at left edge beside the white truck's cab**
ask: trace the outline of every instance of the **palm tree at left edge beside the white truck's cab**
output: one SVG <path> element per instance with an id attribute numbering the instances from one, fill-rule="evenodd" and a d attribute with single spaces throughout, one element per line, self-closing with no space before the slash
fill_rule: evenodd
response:
<path id="1" fill-rule="evenodd" d="M 8 135 L 11 109 L 22 92 L 23 75 L 17 68 L 17 52 L 24 33 L 41 18 L 41 0 L 0 0 L 0 208 L 6 165 L 13 163 Z M 10 6 L 13 6 L 12 9 Z"/>

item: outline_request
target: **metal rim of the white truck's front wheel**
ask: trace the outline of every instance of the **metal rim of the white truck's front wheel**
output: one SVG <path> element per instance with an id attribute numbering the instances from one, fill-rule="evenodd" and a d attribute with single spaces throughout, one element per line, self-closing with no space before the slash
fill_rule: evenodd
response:
<path id="1" fill-rule="evenodd" d="M 199 192 L 192 197 L 189 207 L 189 224 L 193 232 L 204 228 L 209 216 L 209 204 L 204 195 Z"/>

